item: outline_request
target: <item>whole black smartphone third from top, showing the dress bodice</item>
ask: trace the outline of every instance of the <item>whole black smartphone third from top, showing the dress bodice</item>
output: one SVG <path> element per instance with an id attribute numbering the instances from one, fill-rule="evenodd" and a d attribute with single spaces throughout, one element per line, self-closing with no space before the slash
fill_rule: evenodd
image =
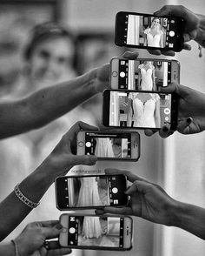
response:
<path id="1" fill-rule="evenodd" d="M 159 130 L 177 125 L 176 94 L 160 91 L 105 90 L 102 95 L 102 125 Z"/>

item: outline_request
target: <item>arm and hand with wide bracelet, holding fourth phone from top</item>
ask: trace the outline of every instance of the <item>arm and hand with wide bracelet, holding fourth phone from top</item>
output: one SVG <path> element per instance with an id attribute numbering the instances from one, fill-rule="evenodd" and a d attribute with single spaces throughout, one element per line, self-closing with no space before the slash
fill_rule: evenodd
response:
<path id="1" fill-rule="evenodd" d="M 58 176 L 65 175 L 74 165 L 95 165 L 96 156 L 76 156 L 78 131 L 96 131 L 94 126 L 77 122 L 63 136 L 53 152 L 27 178 L 19 188 L 33 202 L 38 202 Z M 14 166 L 15 168 L 15 166 Z M 0 203 L 0 240 L 3 240 L 30 213 L 32 209 L 17 198 L 15 192 Z"/>

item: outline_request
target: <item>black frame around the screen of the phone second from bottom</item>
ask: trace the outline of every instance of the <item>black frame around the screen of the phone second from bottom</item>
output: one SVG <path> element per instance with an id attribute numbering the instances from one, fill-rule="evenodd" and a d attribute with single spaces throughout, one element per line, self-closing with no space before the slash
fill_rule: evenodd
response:
<path id="1" fill-rule="evenodd" d="M 85 177 L 110 177 L 110 176 L 122 176 L 125 179 L 125 187 L 126 189 L 128 188 L 128 179 L 127 176 L 124 174 L 99 174 L 99 175 L 80 175 L 80 176 L 64 176 L 64 177 L 58 177 L 55 179 L 55 194 L 56 194 L 56 208 L 59 211 L 71 211 L 71 210 L 87 210 L 87 209 L 97 209 L 97 208 L 102 208 L 104 206 L 110 206 L 110 205 L 98 205 L 98 206 L 71 206 L 67 207 L 63 205 L 62 200 L 64 199 L 63 192 L 67 191 L 67 187 L 64 186 L 65 182 L 64 179 L 71 179 L 71 178 L 85 178 Z M 60 185 L 59 185 L 60 184 Z M 62 188 L 63 187 L 63 188 Z M 126 203 L 124 205 L 115 205 L 117 208 L 122 208 L 129 203 L 129 196 L 126 197 Z"/>

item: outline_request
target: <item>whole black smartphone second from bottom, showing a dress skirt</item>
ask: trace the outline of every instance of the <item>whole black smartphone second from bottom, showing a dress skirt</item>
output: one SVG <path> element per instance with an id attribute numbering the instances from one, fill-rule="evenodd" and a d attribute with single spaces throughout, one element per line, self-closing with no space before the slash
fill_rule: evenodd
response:
<path id="1" fill-rule="evenodd" d="M 129 201 L 123 174 L 58 177 L 55 185 L 59 210 L 125 206 Z"/>

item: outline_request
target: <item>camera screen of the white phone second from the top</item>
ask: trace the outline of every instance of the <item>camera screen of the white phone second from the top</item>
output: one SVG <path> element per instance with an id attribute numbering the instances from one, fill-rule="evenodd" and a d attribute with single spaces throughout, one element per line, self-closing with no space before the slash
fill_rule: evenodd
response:
<path id="1" fill-rule="evenodd" d="M 160 91 L 171 81 L 170 61 L 119 60 L 118 89 Z"/>

